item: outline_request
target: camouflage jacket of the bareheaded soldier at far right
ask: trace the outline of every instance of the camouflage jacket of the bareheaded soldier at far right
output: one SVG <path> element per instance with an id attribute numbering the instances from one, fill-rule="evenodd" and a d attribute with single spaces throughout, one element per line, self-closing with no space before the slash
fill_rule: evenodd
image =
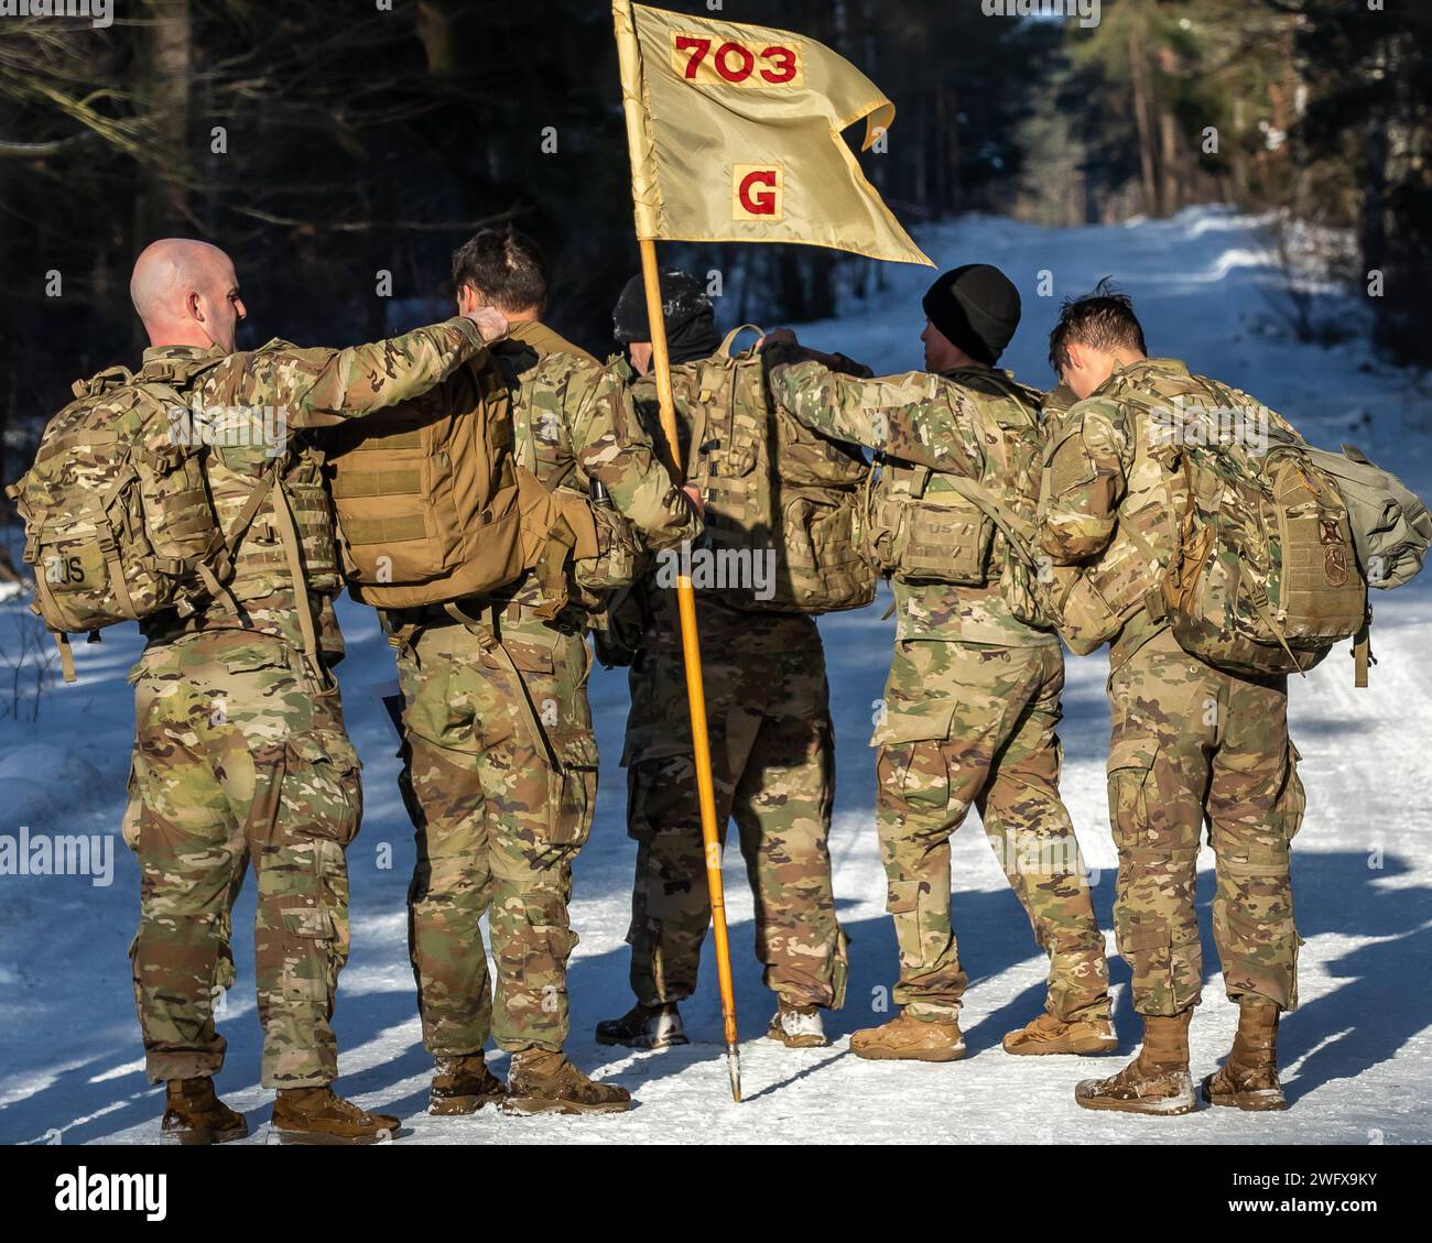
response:
<path id="1" fill-rule="evenodd" d="M 1114 664 L 1164 626 L 1137 606 L 1173 556 L 1187 500 L 1176 471 L 1179 440 L 1197 415 L 1210 412 L 1206 384 L 1173 358 L 1116 367 L 1088 398 L 1058 415 L 1047 435 L 1040 544 L 1058 564 L 1084 566 L 1114 613 L 1136 610 L 1111 643 Z"/>

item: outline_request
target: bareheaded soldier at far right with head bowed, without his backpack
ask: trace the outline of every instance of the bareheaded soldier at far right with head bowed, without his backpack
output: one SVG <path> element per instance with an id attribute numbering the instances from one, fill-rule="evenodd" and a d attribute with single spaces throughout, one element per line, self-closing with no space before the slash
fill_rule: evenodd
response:
<path id="1" fill-rule="evenodd" d="M 1137 1060 L 1081 1083 L 1077 1100 L 1134 1113 L 1194 1108 L 1189 1020 L 1203 981 L 1194 886 L 1207 821 L 1217 856 L 1213 937 L 1240 1017 L 1203 1096 L 1277 1110 L 1286 1107 L 1277 1017 L 1297 1001 L 1289 846 L 1303 816 L 1287 686 L 1204 664 L 1163 619 L 1157 586 L 1184 497 L 1173 470 L 1177 437 L 1151 434 L 1147 400 L 1177 410 L 1204 390 L 1181 362 L 1144 352 L 1130 301 L 1107 291 L 1067 305 L 1050 341 L 1050 361 L 1078 401 L 1050 440 L 1040 533 L 1058 563 L 1084 567 L 1113 616 L 1114 922 L 1144 1020 Z"/>

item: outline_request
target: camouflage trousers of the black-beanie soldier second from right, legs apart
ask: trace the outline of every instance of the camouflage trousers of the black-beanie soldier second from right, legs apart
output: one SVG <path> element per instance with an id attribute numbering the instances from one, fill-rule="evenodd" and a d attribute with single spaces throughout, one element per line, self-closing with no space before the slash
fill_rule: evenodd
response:
<path id="1" fill-rule="evenodd" d="M 899 944 L 895 1001 L 959 1012 L 968 978 L 951 927 L 949 839 L 969 806 L 1048 954 L 1045 1008 L 1107 1018 L 1108 965 L 1060 799 L 1064 657 L 1057 646 L 901 640 L 875 733 L 876 828 Z"/>

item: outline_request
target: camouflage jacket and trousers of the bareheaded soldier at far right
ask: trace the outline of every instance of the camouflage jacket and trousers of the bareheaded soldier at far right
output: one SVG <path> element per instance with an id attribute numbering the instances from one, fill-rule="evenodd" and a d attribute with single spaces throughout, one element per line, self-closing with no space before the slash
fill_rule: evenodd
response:
<path id="1" fill-rule="evenodd" d="M 1180 501 L 1164 457 L 1176 438 L 1150 434 L 1148 400 L 1171 400 L 1189 385 L 1187 368 L 1171 359 L 1120 368 L 1070 407 L 1050 441 L 1041 544 L 1061 564 L 1087 564 L 1090 579 L 1110 584 L 1111 600 L 1117 584 L 1128 586 L 1134 607 L 1173 550 Z M 1137 391 L 1137 407 L 1116 388 Z M 1289 843 L 1303 788 L 1287 737 L 1286 680 L 1210 669 L 1146 609 L 1111 640 L 1110 667 L 1114 921 L 1134 974 L 1134 1008 L 1174 1015 L 1199 1001 L 1194 879 L 1204 818 L 1217 856 L 1214 939 L 1229 995 L 1292 1008 L 1299 942 Z"/>

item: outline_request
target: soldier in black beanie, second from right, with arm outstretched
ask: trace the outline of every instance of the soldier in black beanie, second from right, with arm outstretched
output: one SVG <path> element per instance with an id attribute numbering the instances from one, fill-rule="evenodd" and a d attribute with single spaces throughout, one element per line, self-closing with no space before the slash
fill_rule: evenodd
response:
<path id="1" fill-rule="evenodd" d="M 994 369 L 1018 324 L 1020 296 L 998 269 L 969 265 L 941 276 L 924 306 L 925 372 L 841 378 L 780 331 L 766 338 L 770 391 L 825 435 L 979 480 L 992 450 L 978 428 L 1037 420 L 1038 394 Z M 1007 483 L 1031 497 L 1037 490 L 1032 478 Z M 1050 959 L 1044 1012 L 1005 1035 L 1005 1050 L 1108 1053 L 1116 1038 L 1104 944 L 1058 792 L 1060 640 L 1011 611 L 998 577 L 959 586 L 896 574 L 894 593 L 895 657 L 872 746 L 904 1010 L 858 1031 L 851 1048 L 868 1058 L 964 1055 L 967 977 L 951 927 L 949 839 L 975 806 Z"/>

